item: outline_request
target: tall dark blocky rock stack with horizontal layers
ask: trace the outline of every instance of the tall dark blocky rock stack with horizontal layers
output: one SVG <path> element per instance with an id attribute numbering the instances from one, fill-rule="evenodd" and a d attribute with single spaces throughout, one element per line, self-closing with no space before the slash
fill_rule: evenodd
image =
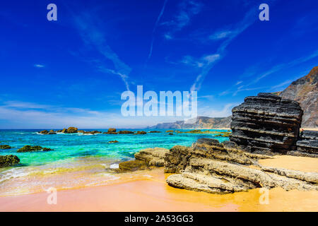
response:
<path id="1" fill-rule="evenodd" d="M 230 141 L 251 153 L 285 154 L 296 149 L 301 121 L 298 102 L 259 93 L 232 109 Z"/>

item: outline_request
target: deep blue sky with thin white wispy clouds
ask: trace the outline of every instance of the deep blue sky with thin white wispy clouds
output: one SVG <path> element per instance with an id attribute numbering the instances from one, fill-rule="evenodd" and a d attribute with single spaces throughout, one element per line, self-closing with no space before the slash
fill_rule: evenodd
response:
<path id="1" fill-rule="evenodd" d="M 57 21 L 47 5 L 57 5 Z M 259 5 L 269 4 L 269 21 Z M 318 60 L 317 1 L 4 1 L 0 128 L 136 128 L 120 95 L 196 90 L 199 115 L 283 90 Z"/>

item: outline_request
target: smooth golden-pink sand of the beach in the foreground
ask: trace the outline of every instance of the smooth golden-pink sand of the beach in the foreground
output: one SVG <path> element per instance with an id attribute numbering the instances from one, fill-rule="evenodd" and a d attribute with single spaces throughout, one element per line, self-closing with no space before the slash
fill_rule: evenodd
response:
<path id="1" fill-rule="evenodd" d="M 310 157 L 278 156 L 260 163 L 318 172 L 318 159 Z M 116 184 L 57 191 L 57 205 L 47 203 L 46 192 L 0 197 L 0 211 L 318 211 L 318 191 L 271 189 L 269 204 L 261 204 L 259 189 L 206 194 L 167 186 L 162 168 L 132 174 Z"/>

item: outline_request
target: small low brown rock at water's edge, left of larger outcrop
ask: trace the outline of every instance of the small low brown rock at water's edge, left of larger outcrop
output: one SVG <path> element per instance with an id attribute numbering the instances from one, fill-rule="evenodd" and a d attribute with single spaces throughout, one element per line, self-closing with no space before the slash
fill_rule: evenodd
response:
<path id="1" fill-rule="evenodd" d="M 119 163 L 119 171 L 135 171 L 149 167 L 163 167 L 165 155 L 169 152 L 166 148 L 146 148 L 135 154 L 136 160 Z"/>

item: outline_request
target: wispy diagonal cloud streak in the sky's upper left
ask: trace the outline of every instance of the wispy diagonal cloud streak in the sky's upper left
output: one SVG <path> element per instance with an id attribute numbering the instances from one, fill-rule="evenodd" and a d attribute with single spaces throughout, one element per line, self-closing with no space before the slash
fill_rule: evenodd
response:
<path id="1" fill-rule="evenodd" d="M 96 16 L 94 15 L 94 17 Z M 93 22 L 92 15 L 89 13 L 74 13 L 74 22 L 83 42 L 90 47 L 95 47 L 105 59 L 110 60 L 114 69 L 107 69 L 106 66 L 100 64 L 96 64 L 96 67 L 104 73 L 112 73 L 122 78 L 126 90 L 129 90 L 128 78 L 131 68 L 107 44 L 104 32 Z M 96 62 L 98 61 L 97 59 Z"/>

